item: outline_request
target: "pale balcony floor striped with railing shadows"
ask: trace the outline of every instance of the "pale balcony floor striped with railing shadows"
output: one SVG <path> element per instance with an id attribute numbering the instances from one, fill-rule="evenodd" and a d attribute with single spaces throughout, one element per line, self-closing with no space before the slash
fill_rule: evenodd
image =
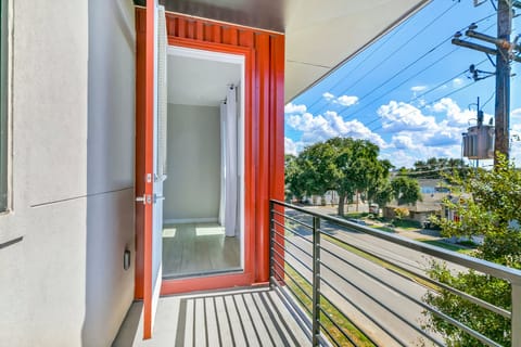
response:
<path id="1" fill-rule="evenodd" d="M 153 338 L 142 340 L 135 303 L 113 346 L 307 346 L 309 339 L 268 287 L 162 297 Z"/>

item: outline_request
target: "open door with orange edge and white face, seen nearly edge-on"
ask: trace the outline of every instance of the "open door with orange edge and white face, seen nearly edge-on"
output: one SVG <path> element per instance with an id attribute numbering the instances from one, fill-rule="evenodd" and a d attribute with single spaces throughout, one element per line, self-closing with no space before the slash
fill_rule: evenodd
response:
<path id="1" fill-rule="evenodd" d="M 152 337 L 162 281 L 163 181 L 166 179 L 166 26 L 164 9 L 147 1 L 138 33 L 136 112 L 136 298 L 143 301 L 143 338 Z M 157 35 L 162 33 L 162 35 Z M 143 44 L 144 43 L 144 44 Z M 144 98 L 142 97 L 144 95 Z M 140 266 L 141 265 L 141 266 Z"/>

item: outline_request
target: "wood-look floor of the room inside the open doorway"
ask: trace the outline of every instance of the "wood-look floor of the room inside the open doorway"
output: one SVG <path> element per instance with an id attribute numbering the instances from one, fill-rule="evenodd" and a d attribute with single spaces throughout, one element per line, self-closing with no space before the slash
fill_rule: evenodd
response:
<path id="1" fill-rule="evenodd" d="M 239 237 L 218 223 L 165 224 L 163 277 L 181 278 L 241 270 Z"/>

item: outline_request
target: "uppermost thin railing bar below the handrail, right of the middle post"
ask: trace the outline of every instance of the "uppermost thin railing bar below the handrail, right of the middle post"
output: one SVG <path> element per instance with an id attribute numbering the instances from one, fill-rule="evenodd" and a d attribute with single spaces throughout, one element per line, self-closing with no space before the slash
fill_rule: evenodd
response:
<path id="1" fill-rule="evenodd" d="M 435 280 L 433 280 L 433 279 L 431 279 L 431 278 L 429 278 L 429 277 L 427 277 L 427 275 L 424 275 L 424 274 L 422 274 L 422 273 L 420 273 L 420 272 L 410 271 L 409 269 L 407 269 L 407 268 L 405 268 L 405 267 L 403 267 L 403 266 L 394 262 L 393 260 L 391 260 L 391 259 L 389 259 L 389 258 L 384 258 L 384 257 L 381 257 L 381 256 L 379 256 L 379 255 L 376 255 L 376 254 L 371 253 L 370 250 L 366 250 L 366 249 L 364 249 L 363 247 L 359 247 L 359 246 L 357 246 L 357 245 L 351 244 L 351 243 L 346 242 L 345 240 L 339 239 L 339 237 L 336 237 L 336 236 L 334 236 L 334 235 L 332 235 L 332 234 L 330 234 L 330 233 L 328 233 L 328 232 L 325 232 L 325 234 L 328 235 L 329 237 L 333 239 L 334 241 L 338 241 L 338 242 L 342 243 L 343 245 L 353 247 L 353 248 L 355 248 L 355 249 L 357 249 L 357 250 L 359 250 L 359 252 L 363 252 L 363 253 L 366 253 L 366 254 L 370 255 L 370 256 L 373 257 L 373 258 L 377 258 L 377 259 L 379 259 L 379 260 L 381 260 L 381 261 L 387 262 L 387 264 L 392 265 L 393 267 L 398 268 L 399 270 L 405 271 L 405 272 L 407 272 L 408 274 L 410 274 L 410 275 L 412 275 L 412 277 L 419 278 L 419 279 L 421 279 L 421 280 L 423 280 L 423 281 L 425 281 L 425 282 L 429 282 L 429 283 L 431 283 L 431 284 L 434 284 L 434 285 L 437 285 L 437 286 L 440 286 L 440 287 L 443 287 L 444 290 L 446 290 L 446 291 L 448 291 L 448 292 L 450 292 L 450 293 L 453 293 L 453 294 L 455 294 L 455 295 L 458 295 L 459 297 L 465 298 L 466 300 L 468 300 L 468 301 L 470 301 L 470 303 L 472 303 L 472 304 L 475 304 L 475 305 L 478 305 L 478 306 L 480 306 L 480 307 L 482 307 L 482 308 L 484 308 L 484 309 L 487 309 L 487 310 L 490 310 L 490 311 L 492 311 L 492 312 L 495 312 L 495 313 L 500 314 L 500 316 L 503 316 L 503 317 L 505 317 L 505 318 L 508 318 L 508 319 L 510 319 L 511 316 L 512 316 L 510 311 L 508 311 L 508 310 L 506 310 L 506 309 L 504 309 L 504 308 L 501 308 L 501 307 L 492 305 L 491 303 L 487 303 L 487 301 L 485 301 L 485 300 L 483 300 L 483 299 L 480 299 L 480 298 L 478 298 L 478 297 L 474 297 L 474 296 L 472 296 L 472 295 L 470 295 L 470 294 L 467 294 L 467 293 L 465 293 L 465 292 L 458 291 L 458 290 L 456 290 L 456 288 L 454 288 L 454 287 L 452 287 L 452 286 L 449 286 L 449 285 L 447 285 L 447 284 L 445 284 L 445 283 L 443 283 L 443 282 L 435 281 Z M 326 240 L 326 241 L 327 241 L 327 240 Z M 323 249 L 323 250 L 326 250 L 326 252 L 328 252 L 328 249 L 325 248 L 322 245 L 320 245 L 320 248 Z M 346 252 L 350 252 L 350 250 L 346 249 Z M 329 252 L 328 252 L 328 253 L 329 253 Z M 339 258 L 339 257 L 336 257 L 336 258 Z M 343 262 L 346 262 L 346 260 L 343 259 L 343 258 L 339 258 L 339 259 L 342 260 Z M 392 269 L 391 269 L 391 270 L 392 270 Z M 401 274 L 401 275 L 402 275 L 402 274 Z M 412 279 L 412 278 L 409 278 L 409 279 L 410 279 L 411 281 L 415 281 L 415 279 Z M 417 281 L 415 281 L 415 282 L 417 282 Z"/>

